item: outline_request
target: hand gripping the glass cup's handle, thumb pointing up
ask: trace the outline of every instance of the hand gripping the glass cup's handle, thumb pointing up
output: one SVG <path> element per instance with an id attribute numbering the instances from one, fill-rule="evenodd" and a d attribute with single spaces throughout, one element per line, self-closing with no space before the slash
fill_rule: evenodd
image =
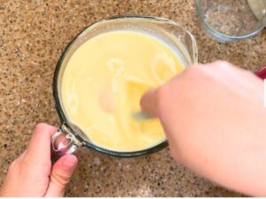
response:
<path id="1" fill-rule="evenodd" d="M 65 155 L 51 166 L 51 135 L 53 126 L 39 124 L 28 149 L 10 166 L 0 196 L 64 196 L 77 158 Z"/>

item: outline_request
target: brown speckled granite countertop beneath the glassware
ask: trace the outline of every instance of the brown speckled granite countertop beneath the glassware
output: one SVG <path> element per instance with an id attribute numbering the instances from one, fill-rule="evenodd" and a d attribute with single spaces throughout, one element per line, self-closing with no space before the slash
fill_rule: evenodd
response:
<path id="1" fill-rule="evenodd" d="M 192 0 L 0 0 L 0 183 L 37 123 L 59 126 L 51 83 L 67 42 L 90 23 L 117 14 L 178 21 L 195 35 L 202 63 L 220 58 L 251 71 L 266 65 L 265 29 L 245 41 L 215 42 L 200 28 Z M 168 149 L 131 159 L 90 149 L 80 149 L 77 156 L 67 196 L 238 195 L 177 165 Z"/>

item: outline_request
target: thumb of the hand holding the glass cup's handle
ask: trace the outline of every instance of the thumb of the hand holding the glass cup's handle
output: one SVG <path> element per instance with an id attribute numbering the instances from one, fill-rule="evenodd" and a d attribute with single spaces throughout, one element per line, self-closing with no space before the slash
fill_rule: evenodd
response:
<path id="1" fill-rule="evenodd" d="M 50 184 L 45 195 L 46 197 L 64 196 L 66 185 L 71 179 L 77 162 L 77 157 L 74 155 L 65 155 L 59 158 L 52 166 Z"/>

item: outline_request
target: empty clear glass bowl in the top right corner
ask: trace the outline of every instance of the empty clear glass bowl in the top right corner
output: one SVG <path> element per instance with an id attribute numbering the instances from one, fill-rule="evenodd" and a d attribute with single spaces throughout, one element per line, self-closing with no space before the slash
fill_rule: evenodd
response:
<path id="1" fill-rule="evenodd" d="M 200 23 L 218 41 L 246 39 L 266 27 L 266 0 L 195 0 Z"/>

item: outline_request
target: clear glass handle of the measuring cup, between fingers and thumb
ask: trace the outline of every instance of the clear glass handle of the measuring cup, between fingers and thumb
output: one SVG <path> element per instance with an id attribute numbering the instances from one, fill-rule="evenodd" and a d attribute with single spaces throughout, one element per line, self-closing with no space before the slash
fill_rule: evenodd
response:
<path id="1" fill-rule="evenodd" d="M 62 126 L 51 136 L 51 160 L 56 161 L 59 157 L 72 154 L 82 145 L 74 134 L 66 133 Z"/>

